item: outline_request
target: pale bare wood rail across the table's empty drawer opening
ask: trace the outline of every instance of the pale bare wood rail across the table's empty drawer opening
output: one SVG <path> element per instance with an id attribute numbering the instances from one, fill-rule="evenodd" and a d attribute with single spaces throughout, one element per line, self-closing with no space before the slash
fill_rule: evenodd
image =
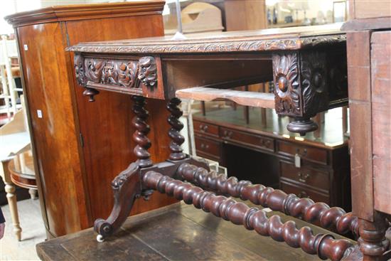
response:
<path id="1" fill-rule="evenodd" d="M 274 94 L 265 92 L 246 92 L 207 87 L 193 87 L 176 91 L 176 97 L 190 100 L 231 100 L 238 105 L 274 109 Z"/>

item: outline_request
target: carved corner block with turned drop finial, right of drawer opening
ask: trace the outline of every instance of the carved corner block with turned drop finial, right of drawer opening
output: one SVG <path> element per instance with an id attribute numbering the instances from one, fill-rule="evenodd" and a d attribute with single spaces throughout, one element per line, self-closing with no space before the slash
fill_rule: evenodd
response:
<path id="1" fill-rule="evenodd" d="M 347 92 L 343 93 L 347 84 L 341 80 L 346 72 L 336 68 L 337 60 L 326 50 L 290 51 L 272 56 L 275 109 L 278 114 L 294 117 L 287 126 L 290 132 L 304 135 L 318 129 L 311 117 L 331 107 L 334 89 L 342 90 L 339 97 L 347 97 Z"/>

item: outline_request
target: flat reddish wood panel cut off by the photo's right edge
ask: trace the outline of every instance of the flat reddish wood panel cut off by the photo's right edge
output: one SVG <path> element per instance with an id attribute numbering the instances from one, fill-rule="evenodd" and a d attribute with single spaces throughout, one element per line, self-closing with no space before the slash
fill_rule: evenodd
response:
<path id="1" fill-rule="evenodd" d="M 371 38 L 375 209 L 391 214 L 391 31 Z"/>

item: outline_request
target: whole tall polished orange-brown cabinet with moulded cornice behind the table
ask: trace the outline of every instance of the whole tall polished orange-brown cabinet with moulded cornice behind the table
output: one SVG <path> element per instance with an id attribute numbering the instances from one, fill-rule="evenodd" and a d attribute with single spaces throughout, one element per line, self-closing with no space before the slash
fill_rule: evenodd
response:
<path id="1" fill-rule="evenodd" d="M 163 4 L 61 6 L 9 17 L 18 36 L 39 194 L 50 236 L 88 228 L 96 218 L 108 215 L 109 183 L 135 159 L 130 139 L 132 101 L 102 92 L 100 103 L 88 103 L 73 76 L 73 54 L 65 48 L 79 41 L 161 36 Z M 166 114 L 165 105 L 151 101 L 148 108 L 156 115 L 151 118 L 156 120 L 151 124 L 151 139 L 156 139 L 153 159 L 161 161 L 168 156 L 161 150 L 168 138 L 157 130 L 169 127 L 159 117 Z M 172 202 L 153 196 L 148 206 L 136 204 L 134 213 Z"/>

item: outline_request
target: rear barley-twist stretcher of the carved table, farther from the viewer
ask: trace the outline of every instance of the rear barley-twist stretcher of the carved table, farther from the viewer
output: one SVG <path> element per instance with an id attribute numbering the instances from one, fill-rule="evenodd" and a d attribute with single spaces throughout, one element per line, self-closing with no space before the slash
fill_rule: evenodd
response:
<path id="1" fill-rule="evenodd" d="M 179 166 L 177 175 L 205 189 L 245 201 L 250 200 L 256 205 L 271 208 L 273 211 L 280 211 L 310 223 L 320 223 L 323 228 L 335 228 L 338 233 L 352 231 L 358 234 L 358 218 L 352 213 L 346 213 L 342 208 L 330 208 L 326 203 L 314 203 L 310 198 L 299 198 L 278 189 L 253 185 L 250 181 L 237 181 L 237 178 L 233 176 L 227 179 L 224 174 L 216 174 L 215 171 L 207 171 L 187 163 Z"/>

